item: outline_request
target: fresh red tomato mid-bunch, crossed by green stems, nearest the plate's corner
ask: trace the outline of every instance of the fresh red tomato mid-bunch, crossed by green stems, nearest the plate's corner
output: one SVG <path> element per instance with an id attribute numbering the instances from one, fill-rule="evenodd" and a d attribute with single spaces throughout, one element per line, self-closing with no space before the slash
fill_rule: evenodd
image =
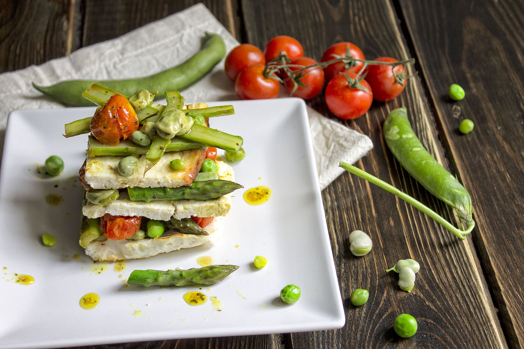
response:
<path id="1" fill-rule="evenodd" d="M 312 58 L 309 57 L 301 57 L 297 58 L 296 60 L 293 60 L 291 64 L 298 64 L 298 65 L 312 65 L 318 63 Z M 291 71 L 297 71 L 300 68 L 297 67 L 290 67 Z M 293 97 L 300 97 L 302 99 L 310 99 L 313 97 L 316 97 L 322 91 L 322 87 L 324 87 L 324 72 L 322 69 L 308 69 L 305 70 L 306 74 L 300 78 L 300 81 L 306 85 L 308 85 L 310 88 L 304 87 L 304 86 L 298 86 L 296 91 L 293 93 Z M 287 74 L 286 74 L 287 75 Z M 293 91 L 293 82 L 291 80 L 285 80 L 284 86 L 286 86 L 286 89 L 288 92 Z"/>

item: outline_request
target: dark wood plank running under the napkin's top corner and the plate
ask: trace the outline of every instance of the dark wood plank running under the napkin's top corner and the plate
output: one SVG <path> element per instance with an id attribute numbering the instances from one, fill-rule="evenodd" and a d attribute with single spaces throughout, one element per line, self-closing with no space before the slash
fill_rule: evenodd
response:
<path id="1" fill-rule="evenodd" d="M 84 46 L 113 39 L 130 30 L 146 25 L 149 22 L 162 19 L 173 13 L 180 12 L 199 1 L 158 1 L 154 6 L 147 0 L 112 1 L 110 6 L 101 6 L 99 1 L 85 2 L 85 21 L 82 43 Z M 229 30 L 233 36 L 241 40 L 238 4 L 233 0 L 203 1 L 213 15 Z M 110 8 L 109 8 L 110 7 Z M 110 10 L 111 9 L 111 10 Z M 133 9 L 133 10 L 130 10 Z M 132 348 L 137 344 L 123 344 L 122 348 Z M 173 340 L 165 342 L 147 342 L 139 347 L 154 348 L 253 348 L 280 349 L 282 336 L 279 334 L 219 337 L 194 340 Z"/>

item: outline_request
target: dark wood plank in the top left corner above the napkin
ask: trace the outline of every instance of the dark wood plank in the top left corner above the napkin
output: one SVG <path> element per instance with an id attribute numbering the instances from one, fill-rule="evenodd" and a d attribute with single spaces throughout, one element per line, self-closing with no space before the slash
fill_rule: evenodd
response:
<path id="1" fill-rule="evenodd" d="M 41 64 L 79 47 L 80 0 L 0 0 L 0 73 Z"/>

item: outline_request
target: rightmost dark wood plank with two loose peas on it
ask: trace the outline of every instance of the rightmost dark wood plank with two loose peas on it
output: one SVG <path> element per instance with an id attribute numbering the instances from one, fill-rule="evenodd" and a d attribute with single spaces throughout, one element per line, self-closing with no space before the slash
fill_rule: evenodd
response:
<path id="1" fill-rule="evenodd" d="M 472 196 L 473 238 L 503 328 L 512 346 L 524 347 L 524 4 L 401 5 L 444 139 Z M 466 91 L 461 102 L 446 97 L 452 83 Z M 457 131 L 464 118 L 475 122 L 467 136 Z"/>

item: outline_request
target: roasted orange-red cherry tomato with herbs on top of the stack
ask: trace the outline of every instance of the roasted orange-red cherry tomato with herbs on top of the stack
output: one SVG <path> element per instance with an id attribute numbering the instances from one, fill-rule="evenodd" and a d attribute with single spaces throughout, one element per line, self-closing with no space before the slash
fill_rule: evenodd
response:
<path id="1" fill-rule="evenodd" d="M 91 118 L 89 128 L 102 144 L 118 145 L 138 130 L 135 109 L 126 97 L 113 95 Z"/>

